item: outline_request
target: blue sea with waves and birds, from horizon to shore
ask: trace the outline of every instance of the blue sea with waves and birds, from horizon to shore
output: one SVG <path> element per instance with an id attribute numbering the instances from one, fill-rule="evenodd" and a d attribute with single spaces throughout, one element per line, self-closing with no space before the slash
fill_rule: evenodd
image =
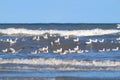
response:
<path id="1" fill-rule="evenodd" d="M 119 80 L 120 24 L 0 24 L 0 79 L 66 77 Z"/>

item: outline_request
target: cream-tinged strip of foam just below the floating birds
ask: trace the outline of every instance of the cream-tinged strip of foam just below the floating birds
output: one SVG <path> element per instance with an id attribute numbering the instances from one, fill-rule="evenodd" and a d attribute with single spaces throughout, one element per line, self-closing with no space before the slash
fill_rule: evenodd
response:
<path id="1" fill-rule="evenodd" d="M 74 66 L 120 66 L 120 61 L 85 61 L 85 60 L 61 60 L 61 59 L 0 59 L 0 64 L 16 63 L 16 64 L 39 64 L 39 65 L 74 65 Z"/>

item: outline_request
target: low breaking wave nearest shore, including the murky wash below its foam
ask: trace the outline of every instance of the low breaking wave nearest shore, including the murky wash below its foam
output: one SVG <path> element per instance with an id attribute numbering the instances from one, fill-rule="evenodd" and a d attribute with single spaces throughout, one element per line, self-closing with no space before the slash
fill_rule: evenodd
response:
<path id="1" fill-rule="evenodd" d="M 10 66 L 17 70 L 120 70 L 120 62 L 110 60 L 0 59 L 0 65 L 3 64 L 17 64 L 17 66 Z"/>

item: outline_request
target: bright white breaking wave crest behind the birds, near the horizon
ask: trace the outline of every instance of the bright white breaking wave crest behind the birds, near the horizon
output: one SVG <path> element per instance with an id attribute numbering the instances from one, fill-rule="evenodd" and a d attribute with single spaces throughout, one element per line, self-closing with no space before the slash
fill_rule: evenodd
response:
<path id="1" fill-rule="evenodd" d="M 120 30 L 114 30 L 114 29 L 103 30 L 98 28 L 92 30 L 30 30 L 24 28 L 0 29 L 0 34 L 3 35 L 42 35 L 45 33 L 60 34 L 61 36 L 65 36 L 65 35 L 96 36 L 96 35 L 120 33 Z"/>

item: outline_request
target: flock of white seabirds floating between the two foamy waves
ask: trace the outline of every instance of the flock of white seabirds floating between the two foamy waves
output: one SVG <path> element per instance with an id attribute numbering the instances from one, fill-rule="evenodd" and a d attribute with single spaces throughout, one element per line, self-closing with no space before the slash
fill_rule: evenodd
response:
<path id="1" fill-rule="evenodd" d="M 69 48 L 69 46 L 68 46 L 68 49 L 64 49 L 64 46 L 61 46 L 61 37 L 60 36 L 58 37 L 57 35 L 45 34 L 42 37 L 43 37 L 43 40 L 48 40 L 48 41 L 52 37 L 54 37 L 54 39 L 52 41 L 50 41 L 50 45 L 46 45 L 46 46 L 43 46 L 43 47 L 38 47 L 37 49 L 31 51 L 30 52 L 31 54 L 49 53 L 49 51 L 50 51 L 49 48 L 51 48 L 51 47 L 54 48 L 54 49 L 52 49 L 53 50 L 52 53 L 59 53 L 59 54 L 90 52 L 89 49 L 81 49 L 80 48 L 81 41 L 80 41 L 79 37 L 74 37 L 74 38 L 71 38 L 70 36 L 63 36 L 62 37 L 62 39 L 64 39 L 64 40 L 71 39 L 72 43 L 75 44 L 75 46 L 73 48 Z M 10 47 L 2 49 L 1 52 L 2 53 L 19 53 L 20 51 L 22 51 L 23 49 L 16 50 L 15 48 L 12 47 L 12 46 L 14 46 L 18 42 L 18 40 L 19 40 L 19 38 L 15 38 L 15 39 L 0 39 L 0 42 L 8 43 L 10 45 Z M 31 40 L 32 41 L 38 41 L 38 43 L 40 43 L 41 36 L 33 36 Z M 116 40 L 120 43 L 120 38 L 116 38 Z M 26 39 L 22 38 L 21 42 L 22 41 L 26 41 Z M 104 42 L 105 42 L 105 39 L 101 39 L 101 40 L 99 40 L 99 39 L 89 39 L 89 40 L 85 41 L 84 44 L 85 45 L 92 45 L 93 43 L 103 43 L 104 44 Z M 56 45 L 58 47 L 56 47 Z M 98 52 L 118 51 L 118 50 L 120 50 L 119 46 L 115 46 L 112 49 L 111 48 L 99 49 Z"/>

